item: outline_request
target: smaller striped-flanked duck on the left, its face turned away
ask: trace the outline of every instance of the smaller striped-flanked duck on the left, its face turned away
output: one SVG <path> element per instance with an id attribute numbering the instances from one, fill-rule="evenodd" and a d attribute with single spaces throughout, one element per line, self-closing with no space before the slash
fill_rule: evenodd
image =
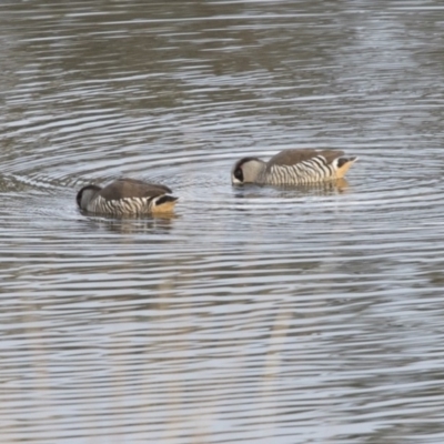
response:
<path id="1" fill-rule="evenodd" d="M 171 212 L 178 198 L 168 193 L 171 190 L 165 185 L 119 179 L 104 188 L 83 186 L 77 194 L 77 203 L 89 213 L 138 216 Z"/>

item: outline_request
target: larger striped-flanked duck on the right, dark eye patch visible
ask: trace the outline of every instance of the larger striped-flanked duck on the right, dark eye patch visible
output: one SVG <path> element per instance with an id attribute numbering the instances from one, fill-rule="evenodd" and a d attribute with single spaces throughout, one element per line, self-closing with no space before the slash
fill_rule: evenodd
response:
<path id="1" fill-rule="evenodd" d="M 244 158 L 231 171 L 233 184 L 304 185 L 342 179 L 356 158 L 334 150 L 284 150 L 268 162 Z"/>

